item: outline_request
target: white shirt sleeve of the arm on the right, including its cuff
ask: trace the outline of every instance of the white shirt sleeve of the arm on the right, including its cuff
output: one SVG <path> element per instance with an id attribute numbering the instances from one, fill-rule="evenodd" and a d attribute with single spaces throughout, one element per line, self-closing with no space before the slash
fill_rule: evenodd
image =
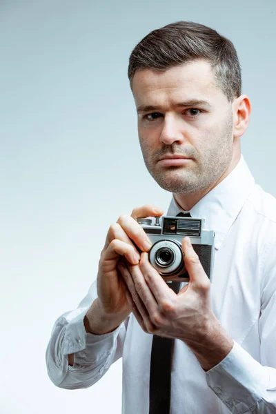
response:
<path id="1" fill-rule="evenodd" d="M 261 287 L 260 362 L 234 341 L 230 353 L 206 373 L 208 386 L 233 414 L 276 414 L 276 246 L 272 246 L 266 248 Z"/>

